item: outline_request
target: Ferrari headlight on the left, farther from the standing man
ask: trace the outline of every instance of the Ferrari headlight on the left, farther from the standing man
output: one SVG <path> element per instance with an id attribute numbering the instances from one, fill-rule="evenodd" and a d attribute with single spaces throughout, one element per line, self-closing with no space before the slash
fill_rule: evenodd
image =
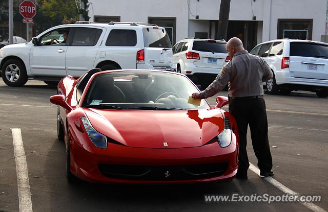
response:
<path id="1" fill-rule="evenodd" d="M 105 135 L 97 132 L 91 125 L 90 121 L 87 117 L 81 116 L 81 121 L 83 123 L 84 128 L 86 129 L 89 138 L 91 142 L 94 144 L 94 146 L 106 149 L 107 148 L 107 138 Z"/>

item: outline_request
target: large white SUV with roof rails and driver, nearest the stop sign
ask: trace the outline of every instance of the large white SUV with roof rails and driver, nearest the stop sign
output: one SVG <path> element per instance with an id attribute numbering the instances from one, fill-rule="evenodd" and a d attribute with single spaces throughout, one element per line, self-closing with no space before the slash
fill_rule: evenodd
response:
<path id="1" fill-rule="evenodd" d="M 81 76 L 94 67 L 172 70 L 172 64 L 167 32 L 148 23 L 61 25 L 28 43 L 0 50 L 2 78 L 9 86 L 22 86 L 28 79 L 54 84 L 66 75 Z"/>

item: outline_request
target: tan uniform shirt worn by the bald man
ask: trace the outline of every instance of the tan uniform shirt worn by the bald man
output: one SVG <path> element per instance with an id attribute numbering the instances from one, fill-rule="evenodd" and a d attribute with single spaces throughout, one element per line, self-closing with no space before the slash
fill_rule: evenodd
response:
<path id="1" fill-rule="evenodd" d="M 272 78 L 272 71 L 263 58 L 247 50 L 237 52 L 224 65 L 214 82 L 199 93 L 202 99 L 214 96 L 229 82 L 230 97 L 252 97 L 264 94 L 262 82 Z"/>

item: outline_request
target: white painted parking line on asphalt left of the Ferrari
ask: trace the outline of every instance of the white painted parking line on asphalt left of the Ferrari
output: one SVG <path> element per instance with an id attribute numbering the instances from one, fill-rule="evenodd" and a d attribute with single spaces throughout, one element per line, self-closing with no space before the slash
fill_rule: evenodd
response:
<path id="1" fill-rule="evenodd" d="M 16 161 L 19 211 L 32 212 L 31 190 L 22 133 L 19 128 L 11 128 Z"/>

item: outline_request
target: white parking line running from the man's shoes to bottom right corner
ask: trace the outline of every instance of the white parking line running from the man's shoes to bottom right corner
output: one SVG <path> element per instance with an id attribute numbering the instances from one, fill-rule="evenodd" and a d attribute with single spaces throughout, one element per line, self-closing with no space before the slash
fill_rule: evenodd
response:
<path id="1" fill-rule="evenodd" d="M 250 163 L 250 170 L 252 170 L 253 172 L 255 172 L 255 174 L 260 176 L 260 170 L 257 167 L 255 167 L 254 164 L 252 164 L 252 163 Z M 299 195 L 298 193 L 296 193 L 293 190 L 289 189 L 288 187 L 284 186 L 283 184 L 281 184 L 277 180 L 273 179 L 272 177 L 264 177 L 264 179 L 267 180 L 268 182 L 270 182 L 271 184 L 273 184 L 275 187 L 277 187 L 277 189 L 279 189 L 280 191 L 282 191 L 285 194 Z M 300 203 L 302 203 L 305 207 L 309 208 L 312 211 L 327 212 L 326 210 L 324 210 L 323 208 L 319 207 L 318 205 L 316 205 L 312 202 L 300 202 Z"/>

